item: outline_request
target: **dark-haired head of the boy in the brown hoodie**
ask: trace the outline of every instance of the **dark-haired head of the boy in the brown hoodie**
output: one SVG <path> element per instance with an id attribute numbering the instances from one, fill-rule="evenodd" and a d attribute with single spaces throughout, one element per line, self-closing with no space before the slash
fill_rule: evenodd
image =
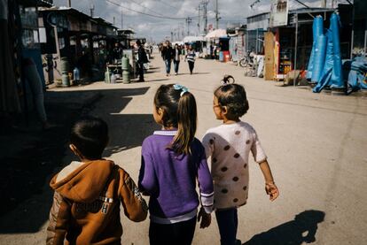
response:
<path id="1" fill-rule="evenodd" d="M 102 157 L 108 142 L 108 126 L 103 119 L 85 117 L 71 128 L 70 142 L 89 160 Z"/>

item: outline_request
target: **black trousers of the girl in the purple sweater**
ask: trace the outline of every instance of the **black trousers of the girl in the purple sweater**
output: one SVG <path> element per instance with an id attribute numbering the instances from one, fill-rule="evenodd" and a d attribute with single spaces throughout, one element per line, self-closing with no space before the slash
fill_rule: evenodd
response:
<path id="1" fill-rule="evenodd" d="M 190 245 L 195 233 L 196 216 L 190 220 L 161 225 L 153 223 L 149 226 L 151 245 Z"/>

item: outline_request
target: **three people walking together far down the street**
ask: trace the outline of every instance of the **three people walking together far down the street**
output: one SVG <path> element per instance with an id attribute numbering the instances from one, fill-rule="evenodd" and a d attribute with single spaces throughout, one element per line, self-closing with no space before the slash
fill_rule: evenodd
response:
<path id="1" fill-rule="evenodd" d="M 180 61 L 183 59 L 183 57 L 183 60 L 187 61 L 187 63 L 189 64 L 190 74 L 193 73 L 196 54 L 195 50 L 193 50 L 191 46 L 188 46 L 185 50 L 182 45 L 175 44 L 175 47 L 172 48 L 171 43 L 169 41 L 166 41 L 160 47 L 160 54 L 166 65 L 167 76 L 169 76 L 171 73 L 172 61 L 174 64 L 175 73 L 176 75 L 178 74 Z"/>

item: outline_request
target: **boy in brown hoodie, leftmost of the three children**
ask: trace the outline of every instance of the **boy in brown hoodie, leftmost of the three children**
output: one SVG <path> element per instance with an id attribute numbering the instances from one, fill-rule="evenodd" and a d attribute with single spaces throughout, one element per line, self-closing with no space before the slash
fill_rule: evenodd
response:
<path id="1" fill-rule="evenodd" d="M 108 142 L 104 120 L 77 121 L 70 149 L 80 158 L 51 180 L 55 190 L 47 227 L 47 244 L 121 244 L 120 203 L 125 215 L 139 222 L 147 205 L 129 174 L 103 159 Z"/>

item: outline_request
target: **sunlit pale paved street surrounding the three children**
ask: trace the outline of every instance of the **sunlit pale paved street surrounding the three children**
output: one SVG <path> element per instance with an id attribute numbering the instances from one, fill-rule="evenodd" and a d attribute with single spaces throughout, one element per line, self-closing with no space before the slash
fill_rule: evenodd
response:
<path id="1" fill-rule="evenodd" d="M 223 74 L 231 74 L 246 88 L 250 110 L 243 120 L 259 134 L 280 191 L 279 198 L 270 203 L 260 168 L 251 158 L 249 199 L 238 210 L 238 239 L 248 241 L 246 244 L 302 244 L 315 239 L 314 244 L 363 244 L 367 240 L 367 95 L 313 94 L 308 88 L 277 87 L 273 81 L 246 78 L 235 65 L 202 59 L 195 65 L 193 75 L 182 62 L 182 74 L 166 77 L 157 54 L 145 75 L 149 82 L 97 82 L 57 91 L 101 89 L 103 97 L 90 114 L 106 119 L 110 126 L 111 141 L 105 157 L 137 180 L 141 143 L 158 128 L 152 119 L 156 88 L 181 83 L 191 90 L 198 103 L 197 137 L 201 138 L 207 128 L 221 123 L 212 111 L 213 91 Z M 66 152 L 60 161 L 66 165 L 71 159 Z M 46 214 L 51 205 L 50 179 L 43 193 L 1 218 L 0 244 L 44 243 Z M 34 199 L 45 203 L 32 204 Z M 35 213 L 43 213 L 43 222 L 21 229 L 23 224 L 32 226 Z M 148 219 L 133 223 L 123 212 L 121 217 L 123 244 L 149 243 Z M 4 232 L 5 226 L 13 228 Z M 214 215 L 209 228 L 197 226 L 193 244 L 219 244 Z"/>

